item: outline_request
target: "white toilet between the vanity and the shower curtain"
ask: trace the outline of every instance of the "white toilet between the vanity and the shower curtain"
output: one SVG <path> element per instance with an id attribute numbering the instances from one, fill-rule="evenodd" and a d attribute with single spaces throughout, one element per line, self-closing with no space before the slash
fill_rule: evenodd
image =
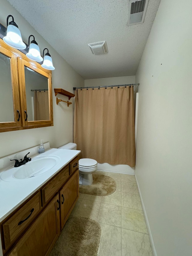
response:
<path id="1" fill-rule="evenodd" d="M 65 144 L 59 149 L 77 149 L 76 143 Z M 97 170 L 97 161 L 91 158 L 79 159 L 79 184 L 80 185 L 91 185 L 93 183 L 93 175 Z"/>

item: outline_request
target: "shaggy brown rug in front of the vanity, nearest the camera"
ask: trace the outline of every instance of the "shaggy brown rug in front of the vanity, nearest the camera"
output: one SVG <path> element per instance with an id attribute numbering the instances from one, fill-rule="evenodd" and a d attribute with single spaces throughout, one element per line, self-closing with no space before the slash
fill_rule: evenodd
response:
<path id="1" fill-rule="evenodd" d="M 97 256 L 101 226 L 97 221 L 71 217 L 49 256 Z"/>

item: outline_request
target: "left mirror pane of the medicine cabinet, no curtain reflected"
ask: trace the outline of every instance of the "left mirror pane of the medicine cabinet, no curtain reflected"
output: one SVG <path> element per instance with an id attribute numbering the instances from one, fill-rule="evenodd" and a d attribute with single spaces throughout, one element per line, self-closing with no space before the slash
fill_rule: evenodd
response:
<path id="1" fill-rule="evenodd" d="M 14 122 L 10 58 L 0 53 L 0 122 Z"/>

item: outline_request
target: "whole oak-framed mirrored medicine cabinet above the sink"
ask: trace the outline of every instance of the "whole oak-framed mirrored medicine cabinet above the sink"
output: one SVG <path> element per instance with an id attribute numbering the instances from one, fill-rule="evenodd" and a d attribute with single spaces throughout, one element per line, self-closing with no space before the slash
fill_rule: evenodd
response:
<path id="1" fill-rule="evenodd" d="M 50 70 L 0 39 L 0 132 L 53 125 L 51 78 Z"/>

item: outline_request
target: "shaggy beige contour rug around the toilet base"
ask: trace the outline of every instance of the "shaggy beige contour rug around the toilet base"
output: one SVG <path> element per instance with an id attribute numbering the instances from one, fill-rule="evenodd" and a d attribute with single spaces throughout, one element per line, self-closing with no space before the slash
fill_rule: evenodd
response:
<path id="1" fill-rule="evenodd" d="M 110 176 L 93 173 L 92 185 L 79 185 L 79 192 L 96 196 L 107 196 L 116 191 L 116 182 Z"/>

